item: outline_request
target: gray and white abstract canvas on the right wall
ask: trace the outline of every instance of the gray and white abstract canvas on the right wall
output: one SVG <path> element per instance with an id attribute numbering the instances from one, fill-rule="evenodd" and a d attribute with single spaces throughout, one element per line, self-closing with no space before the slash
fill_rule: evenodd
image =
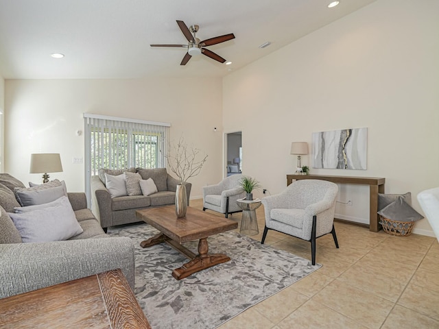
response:
<path id="1" fill-rule="evenodd" d="M 313 168 L 367 169 L 368 128 L 313 132 Z"/>

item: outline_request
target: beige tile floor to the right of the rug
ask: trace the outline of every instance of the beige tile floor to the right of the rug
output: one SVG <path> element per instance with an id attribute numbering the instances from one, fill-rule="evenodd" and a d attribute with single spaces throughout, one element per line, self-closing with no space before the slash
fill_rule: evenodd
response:
<path id="1" fill-rule="evenodd" d="M 202 209 L 202 200 L 191 206 Z M 251 237 L 261 241 L 263 206 L 257 217 L 259 235 Z M 241 213 L 229 218 L 240 222 Z M 437 239 L 337 222 L 335 230 L 340 249 L 331 234 L 317 240 L 320 269 L 219 328 L 439 328 Z M 265 243 L 311 259 L 307 241 L 269 231 Z"/>

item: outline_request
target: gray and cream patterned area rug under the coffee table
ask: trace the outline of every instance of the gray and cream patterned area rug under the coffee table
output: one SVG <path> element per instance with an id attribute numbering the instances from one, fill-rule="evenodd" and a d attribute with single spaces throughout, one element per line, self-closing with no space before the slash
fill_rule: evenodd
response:
<path id="1" fill-rule="evenodd" d="M 217 328 L 321 266 L 230 231 L 208 239 L 209 253 L 224 253 L 229 262 L 177 281 L 171 273 L 188 262 L 185 256 L 166 243 L 140 247 L 157 233 L 146 223 L 108 229 L 110 236 L 132 239 L 134 293 L 154 329 Z M 198 242 L 185 247 L 197 253 Z"/>

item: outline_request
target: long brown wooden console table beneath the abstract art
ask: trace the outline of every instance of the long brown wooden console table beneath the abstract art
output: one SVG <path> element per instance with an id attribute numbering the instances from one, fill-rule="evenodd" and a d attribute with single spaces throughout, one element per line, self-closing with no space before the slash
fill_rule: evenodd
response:
<path id="1" fill-rule="evenodd" d="M 379 225 L 378 193 L 384 193 L 385 178 L 376 177 L 353 177 L 353 176 L 332 176 L 332 175 L 287 175 L 287 185 L 293 180 L 327 180 L 339 184 L 369 185 L 369 230 L 378 232 Z"/>

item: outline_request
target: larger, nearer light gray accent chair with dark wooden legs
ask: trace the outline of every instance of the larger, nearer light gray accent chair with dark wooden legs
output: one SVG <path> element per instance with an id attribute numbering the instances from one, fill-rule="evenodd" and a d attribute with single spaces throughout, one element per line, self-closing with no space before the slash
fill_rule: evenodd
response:
<path id="1" fill-rule="evenodd" d="M 264 197 L 265 228 L 311 242 L 312 264 L 316 265 L 316 239 L 332 233 L 338 248 L 334 228 L 335 200 L 338 186 L 324 180 L 296 180 L 282 193 Z"/>

